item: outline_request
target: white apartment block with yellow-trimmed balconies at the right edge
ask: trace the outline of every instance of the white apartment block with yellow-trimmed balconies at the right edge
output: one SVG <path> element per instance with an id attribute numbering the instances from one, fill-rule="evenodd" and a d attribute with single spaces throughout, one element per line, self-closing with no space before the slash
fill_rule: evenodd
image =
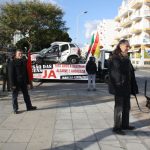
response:
<path id="1" fill-rule="evenodd" d="M 115 21 L 115 41 L 129 40 L 133 65 L 150 66 L 150 0 L 123 0 Z"/>

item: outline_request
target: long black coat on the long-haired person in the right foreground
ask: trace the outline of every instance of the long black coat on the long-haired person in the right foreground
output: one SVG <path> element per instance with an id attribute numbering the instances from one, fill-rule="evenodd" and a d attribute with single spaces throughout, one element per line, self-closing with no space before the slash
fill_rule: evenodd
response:
<path id="1" fill-rule="evenodd" d="M 127 96 L 138 93 L 134 68 L 126 56 L 113 54 L 109 59 L 109 93 Z"/>

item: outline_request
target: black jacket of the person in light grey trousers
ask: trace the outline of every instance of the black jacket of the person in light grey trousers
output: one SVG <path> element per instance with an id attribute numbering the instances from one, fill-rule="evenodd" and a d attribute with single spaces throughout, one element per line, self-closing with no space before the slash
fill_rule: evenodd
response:
<path id="1" fill-rule="evenodd" d="M 86 64 L 86 72 L 88 74 L 96 74 L 97 66 L 94 61 L 90 61 L 90 60 L 88 61 L 88 63 Z"/>

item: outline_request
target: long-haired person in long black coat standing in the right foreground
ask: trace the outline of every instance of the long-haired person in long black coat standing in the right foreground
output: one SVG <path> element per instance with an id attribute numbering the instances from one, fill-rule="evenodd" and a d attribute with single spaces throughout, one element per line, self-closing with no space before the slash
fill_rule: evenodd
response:
<path id="1" fill-rule="evenodd" d="M 122 130 L 135 128 L 129 125 L 130 95 L 138 93 L 129 48 L 129 42 L 121 40 L 109 59 L 109 92 L 115 97 L 113 131 L 122 135 L 125 134 Z"/>

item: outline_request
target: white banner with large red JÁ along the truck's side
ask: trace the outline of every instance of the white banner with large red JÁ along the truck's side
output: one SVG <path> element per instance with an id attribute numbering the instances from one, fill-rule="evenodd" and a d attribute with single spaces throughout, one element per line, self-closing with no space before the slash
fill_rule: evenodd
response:
<path id="1" fill-rule="evenodd" d="M 88 80 L 86 64 L 33 65 L 34 79 Z"/>

